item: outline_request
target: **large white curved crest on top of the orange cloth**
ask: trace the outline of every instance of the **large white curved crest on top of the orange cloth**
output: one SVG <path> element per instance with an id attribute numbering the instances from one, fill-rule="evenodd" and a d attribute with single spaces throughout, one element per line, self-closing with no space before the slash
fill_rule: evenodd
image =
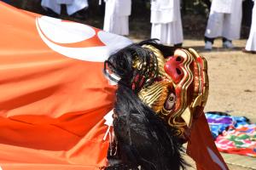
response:
<path id="1" fill-rule="evenodd" d="M 90 26 L 47 16 L 36 18 L 36 26 L 39 36 L 49 48 L 73 59 L 104 62 L 110 54 L 131 44 L 131 40 L 126 37 L 104 31 L 96 33 Z M 91 46 L 91 37 L 96 38 L 94 46 Z M 81 44 L 87 45 L 81 47 Z"/>

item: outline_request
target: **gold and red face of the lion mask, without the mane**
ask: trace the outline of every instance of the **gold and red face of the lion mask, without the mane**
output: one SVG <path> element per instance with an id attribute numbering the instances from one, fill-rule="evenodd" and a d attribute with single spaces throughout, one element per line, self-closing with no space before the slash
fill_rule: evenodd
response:
<path id="1" fill-rule="evenodd" d="M 207 60 L 194 49 L 177 49 L 173 56 L 164 58 L 160 50 L 144 45 L 157 57 L 159 79 L 143 87 L 138 97 L 172 127 L 177 135 L 184 136 L 191 127 L 193 117 L 200 116 L 207 103 Z M 142 65 L 134 62 L 139 69 Z"/>

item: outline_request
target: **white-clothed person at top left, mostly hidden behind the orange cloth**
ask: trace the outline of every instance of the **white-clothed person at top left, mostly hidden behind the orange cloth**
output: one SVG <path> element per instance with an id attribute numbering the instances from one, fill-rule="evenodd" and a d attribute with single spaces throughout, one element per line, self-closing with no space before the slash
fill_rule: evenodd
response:
<path id="1" fill-rule="evenodd" d="M 41 6 L 50 8 L 56 14 L 61 14 L 61 4 L 66 4 L 67 14 L 72 15 L 83 8 L 88 8 L 88 0 L 42 0 Z"/>

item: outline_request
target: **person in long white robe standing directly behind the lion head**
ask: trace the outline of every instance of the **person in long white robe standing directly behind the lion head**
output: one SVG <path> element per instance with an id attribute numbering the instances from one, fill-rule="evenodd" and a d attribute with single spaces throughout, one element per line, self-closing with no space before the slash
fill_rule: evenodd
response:
<path id="1" fill-rule="evenodd" d="M 183 26 L 180 14 L 180 0 L 151 1 L 151 38 L 160 43 L 182 46 Z"/>

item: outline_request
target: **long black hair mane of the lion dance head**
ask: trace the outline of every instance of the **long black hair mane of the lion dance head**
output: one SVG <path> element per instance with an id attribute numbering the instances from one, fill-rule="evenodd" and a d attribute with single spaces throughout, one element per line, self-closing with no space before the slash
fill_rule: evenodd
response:
<path id="1" fill-rule="evenodd" d="M 174 48 L 149 40 L 123 48 L 105 62 L 105 74 L 108 75 L 108 67 L 120 77 L 113 120 L 117 154 L 108 156 L 107 169 L 138 169 L 140 166 L 140 169 L 145 170 L 178 170 L 184 168 L 186 163 L 181 156 L 182 144 L 174 135 L 174 127 L 168 126 L 160 116 L 143 104 L 137 97 L 139 87 L 131 88 L 131 82 L 138 74 L 132 67 L 133 60 L 142 59 L 147 62 L 148 67 L 149 58 L 155 57 L 148 49 L 142 48 L 143 44 L 159 48 L 164 55 L 172 55 L 174 51 Z M 153 72 L 158 74 L 158 71 Z M 110 75 L 108 77 L 114 80 Z M 144 85 L 147 85 L 146 82 Z"/>

